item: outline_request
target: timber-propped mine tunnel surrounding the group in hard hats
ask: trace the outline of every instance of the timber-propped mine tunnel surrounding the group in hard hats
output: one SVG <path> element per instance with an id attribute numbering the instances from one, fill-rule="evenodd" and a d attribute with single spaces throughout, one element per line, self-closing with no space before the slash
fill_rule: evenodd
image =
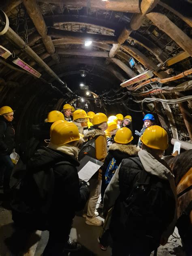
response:
<path id="1" fill-rule="evenodd" d="M 0 107 L 14 110 L 15 151 L 30 150 L 32 127 L 65 104 L 131 116 L 135 145 L 135 130 L 152 114 L 169 137 L 164 156 L 175 142 L 180 154 L 192 149 L 191 13 L 190 0 L 1 1 Z M 12 224 L 11 211 L 1 206 L 1 256 L 16 255 L 5 243 Z M 111 255 L 98 246 L 100 230 L 76 216 L 72 236 L 83 251 L 70 255 Z M 18 255 L 41 255 L 46 232 L 38 230 Z M 175 236 L 159 256 L 185 255 Z"/>

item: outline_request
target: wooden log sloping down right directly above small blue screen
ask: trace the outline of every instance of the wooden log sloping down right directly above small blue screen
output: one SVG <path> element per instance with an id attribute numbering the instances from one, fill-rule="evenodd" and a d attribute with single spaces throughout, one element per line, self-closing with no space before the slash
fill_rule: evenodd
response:
<path id="1" fill-rule="evenodd" d="M 138 49 L 131 47 L 130 45 L 122 45 L 121 46 L 124 51 L 128 52 L 133 58 L 135 58 L 137 61 L 139 61 L 145 68 L 148 68 L 149 70 L 155 70 L 154 74 L 159 78 L 167 78 L 169 75 L 165 73 L 164 71 L 157 70 L 158 66 L 154 64 L 151 60 L 149 60 L 141 51 Z"/>

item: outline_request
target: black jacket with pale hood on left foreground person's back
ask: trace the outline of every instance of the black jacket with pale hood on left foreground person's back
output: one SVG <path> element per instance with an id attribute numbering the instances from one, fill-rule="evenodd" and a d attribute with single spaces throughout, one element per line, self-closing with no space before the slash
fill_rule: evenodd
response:
<path id="1" fill-rule="evenodd" d="M 50 147 L 52 145 L 41 147 L 31 158 L 27 170 L 32 175 L 28 176 L 21 188 L 26 191 L 23 200 L 26 204 L 34 202 L 38 205 L 34 188 L 38 190 L 37 194 L 43 198 L 38 201 L 39 209 L 48 219 L 48 230 L 54 225 L 71 221 L 75 212 L 83 209 L 89 197 L 88 188 L 79 185 L 76 169 L 79 166 L 76 159 L 78 150 L 70 146 L 56 150 Z M 28 188 L 32 188 L 32 191 Z"/>

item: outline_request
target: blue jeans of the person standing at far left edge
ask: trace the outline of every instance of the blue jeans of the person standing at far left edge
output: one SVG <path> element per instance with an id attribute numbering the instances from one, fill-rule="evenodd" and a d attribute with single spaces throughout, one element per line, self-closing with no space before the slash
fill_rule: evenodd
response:
<path id="1" fill-rule="evenodd" d="M 3 175 L 4 173 L 4 178 L 3 178 L 3 190 L 4 193 L 9 192 L 10 190 L 10 178 L 11 178 L 11 173 L 13 171 L 13 162 L 10 158 L 10 156 L 2 156 L 0 155 L 0 173 Z"/>

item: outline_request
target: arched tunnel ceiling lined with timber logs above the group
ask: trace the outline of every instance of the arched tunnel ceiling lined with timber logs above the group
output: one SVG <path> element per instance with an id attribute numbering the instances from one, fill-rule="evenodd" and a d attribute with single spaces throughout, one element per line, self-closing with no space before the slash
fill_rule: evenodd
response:
<path id="1" fill-rule="evenodd" d="M 85 96 L 79 86 L 83 83 L 96 97 L 99 95 L 101 103 L 97 106 L 124 103 L 132 109 L 139 104 L 144 111 L 155 111 L 173 138 L 190 141 L 190 100 L 173 105 L 142 101 L 191 94 L 191 71 L 179 75 L 192 66 L 191 1 L 6 0 L 0 3 L 0 9 L 9 17 L 9 30 L 13 31 L 12 36 L 9 30 L 0 36 L 0 44 L 12 53 L 8 59 L 0 59 L 1 102 L 9 97 L 11 100 L 10 90 L 15 95 L 25 94 L 20 105 L 27 104 L 29 98 L 35 100 L 34 93 L 39 97 L 46 94 L 52 97 L 52 103 L 43 113 L 53 106 L 59 109 L 67 99 L 73 102 L 77 95 Z M 14 32 L 24 45 L 18 43 Z M 92 41 L 90 47 L 85 46 L 87 40 Z M 41 73 L 41 78 L 21 73 L 13 64 L 17 57 Z M 132 57 L 136 64 L 130 68 Z M 120 87 L 125 79 L 145 70 L 151 70 L 157 81 L 137 83 L 137 88 L 135 84 Z M 169 80 L 176 75 L 179 79 Z M 169 83 L 159 79 L 168 79 Z M 166 90 L 159 89 L 164 86 Z"/>

